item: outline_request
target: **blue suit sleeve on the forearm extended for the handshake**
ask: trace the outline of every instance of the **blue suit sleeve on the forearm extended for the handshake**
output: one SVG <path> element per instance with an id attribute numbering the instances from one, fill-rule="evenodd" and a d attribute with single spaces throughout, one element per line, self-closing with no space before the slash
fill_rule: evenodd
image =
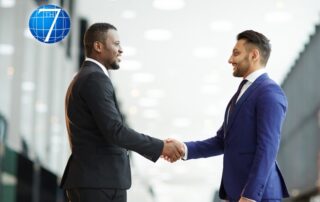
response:
<path id="1" fill-rule="evenodd" d="M 224 131 L 223 125 L 217 131 L 215 137 L 194 142 L 185 142 L 188 148 L 188 159 L 207 158 L 223 154 L 224 151 Z"/>

